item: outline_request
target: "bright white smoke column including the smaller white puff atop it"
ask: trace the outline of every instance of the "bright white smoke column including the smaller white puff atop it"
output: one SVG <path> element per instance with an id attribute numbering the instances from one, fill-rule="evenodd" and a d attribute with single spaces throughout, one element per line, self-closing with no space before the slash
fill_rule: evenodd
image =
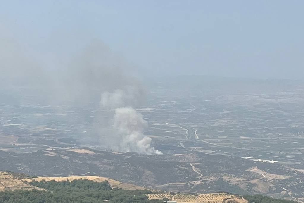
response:
<path id="1" fill-rule="evenodd" d="M 137 152 L 140 154 L 163 154 L 151 147 L 152 139 L 144 136 L 147 122 L 143 115 L 137 113 L 133 106 L 142 95 L 140 88 L 126 86 L 125 89 L 116 89 L 114 92 L 102 93 L 100 106 L 103 109 L 114 109 L 112 129 L 110 133 L 110 147 L 120 152 Z M 129 106 L 129 107 L 126 107 Z"/>

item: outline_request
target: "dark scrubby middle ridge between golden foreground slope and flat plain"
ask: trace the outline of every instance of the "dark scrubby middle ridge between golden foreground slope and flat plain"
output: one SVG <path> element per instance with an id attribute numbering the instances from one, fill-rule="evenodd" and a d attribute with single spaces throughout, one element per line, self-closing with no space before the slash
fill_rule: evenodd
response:
<path id="1" fill-rule="evenodd" d="M 226 191 L 304 201 L 304 173 L 300 166 L 292 168 L 204 152 L 147 156 L 83 148 L 54 148 L 28 153 L 0 150 L 0 163 L 3 170 L 29 175 L 100 175 L 164 191 L 198 194 Z"/>

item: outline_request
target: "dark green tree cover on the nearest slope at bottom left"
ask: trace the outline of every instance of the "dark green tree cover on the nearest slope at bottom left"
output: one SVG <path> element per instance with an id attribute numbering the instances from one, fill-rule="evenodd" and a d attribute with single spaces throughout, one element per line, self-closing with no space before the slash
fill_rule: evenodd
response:
<path id="1" fill-rule="evenodd" d="M 0 192 L 0 203 L 160 203 L 162 200 L 149 200 L 147 190 L 112 189 L 107 181 L 97 183 L 92 180 L 73 181 L 33 181 L 31 185 L 43 188 L 39 190 L 15 190 Z"/>

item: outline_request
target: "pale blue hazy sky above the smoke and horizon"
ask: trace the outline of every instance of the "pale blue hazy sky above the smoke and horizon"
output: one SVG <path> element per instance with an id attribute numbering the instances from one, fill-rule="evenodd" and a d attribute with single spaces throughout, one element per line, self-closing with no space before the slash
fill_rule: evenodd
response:
<path id="1" fill-rule="evenodd" d="M 0 36 L 46 68 L 100 39 L 146 75 L 302 79 L 303 8 L 301 0 L 1 1 Z"/>

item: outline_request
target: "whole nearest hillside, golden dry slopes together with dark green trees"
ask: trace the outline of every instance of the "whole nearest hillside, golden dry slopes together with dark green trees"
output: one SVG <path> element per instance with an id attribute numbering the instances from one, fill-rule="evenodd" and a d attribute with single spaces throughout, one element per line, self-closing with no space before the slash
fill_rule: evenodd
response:
<path id="1" fill-rule="evenodd" d="M 125 191 L 125 192 L 124 192 Z M 66 195 L 67 194 L 67 195 Z M 119 197 L 119 198 L 118 198 Z M 261 198 L 262 197 L 262 198 Z M 178 203 L 264 203 L 265 197 L 234 195 L 225 192 L 206 194 L 148 191 L 146 188 L 126 184 L 100 176 L 30 177 L 22 173 L 0 171 L 0 203 L 10 202 L 153 202 L 164 200 Z M 34 200 L 33 200 L 34 198 Z M 86 199 L 86 201 L 83 200 Z M 267 197 L 268 198 L 268 197 Z M 29 200 L 31 199 L 31 200 Z M 35 200 L 39 199 L 39 201 Z M 258 201 L 256 201 L 258 200 Z M 292 201 L 268 198 L 271 202 Z"/>

